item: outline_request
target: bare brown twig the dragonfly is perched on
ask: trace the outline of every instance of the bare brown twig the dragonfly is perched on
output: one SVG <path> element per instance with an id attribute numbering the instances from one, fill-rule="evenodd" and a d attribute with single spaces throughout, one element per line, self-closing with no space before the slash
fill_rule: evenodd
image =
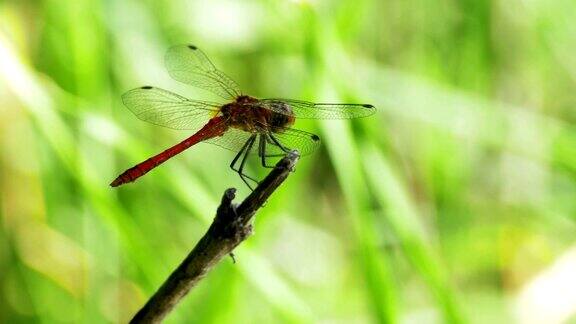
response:
<path id="1" fill-rule="evenodd" d="M 130 323 L 160 323 L 220 259 L 231 254 L 252 233 L 250 220 L 288 177 L 298 158 L 297 151 L 288 153 L 238 207 L 232 204 L 236 189 L 227 189 L 206 234 Z"/>

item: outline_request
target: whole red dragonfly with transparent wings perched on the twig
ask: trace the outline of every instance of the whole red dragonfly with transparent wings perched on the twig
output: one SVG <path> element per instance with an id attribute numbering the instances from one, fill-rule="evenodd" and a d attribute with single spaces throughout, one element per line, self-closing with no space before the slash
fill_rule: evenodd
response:
<path id="1" fill-rule="evenodd" d="M 191 146 L 207 142 L 236 152 L 230 168 L 253 190 L 249 181 L 258 184 L 258 180 L 244 172 L 248 156 L 255 154 L 264 168 L 273 168 L 270 159 L 282 157 L 294 149 L 305 156 L 319 146 L 320 137 L 292 128 L 297 119 L 358 118 L 372 115 L 376 110 L 370 104 L 257 99 L 245 95 L 234 80 L 218 70 L 194 45 L 169 48 L 165 65 L 176 81 L 210 91 L 228 103 L 192 100 L 153 86 L 139 87 L 123 94 L 122 102 L 139 119 L 195 132 L 124 171 L 112 181 L 112 187 L 133 182 Z"/>

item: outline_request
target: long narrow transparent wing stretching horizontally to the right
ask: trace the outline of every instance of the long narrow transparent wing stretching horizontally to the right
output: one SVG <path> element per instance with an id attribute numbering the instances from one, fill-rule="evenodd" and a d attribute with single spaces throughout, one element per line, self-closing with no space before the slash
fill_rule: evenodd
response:
<path id="1" fill-rule="evenodd" d="M 261 99 L 256 105 L 285 115 L 290 115 L 287 112 L 291 110 L 294 116 L 302 119 L 349 119 L 370 116 L 376 112 L 376 108 L 370 104 L 313 103 L 293 99 Z"/>

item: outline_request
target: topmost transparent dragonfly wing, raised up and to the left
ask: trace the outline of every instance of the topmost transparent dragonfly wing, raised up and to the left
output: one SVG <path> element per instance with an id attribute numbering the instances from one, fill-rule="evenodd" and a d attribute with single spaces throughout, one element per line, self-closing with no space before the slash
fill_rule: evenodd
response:
<path id="1" fill-rule="evenodd" d="M 240 95 L 238 85 L 216 69 L 206 54 L 194 45 L 177 45 L 168 49 L 166 68 L 174 80 L 211 91 L 224 99 Z"/>

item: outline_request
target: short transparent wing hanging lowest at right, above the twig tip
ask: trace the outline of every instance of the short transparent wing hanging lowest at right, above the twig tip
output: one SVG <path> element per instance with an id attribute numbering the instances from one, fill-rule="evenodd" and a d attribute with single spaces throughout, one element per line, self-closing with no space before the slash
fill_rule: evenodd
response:
<path id="1" fill-rule="evenodd" d="M 285 155 L 288 150 L 298 150 L 300 156 L 314 152 L 320 146 L 320 138 L 312 133 L 294 128 L 285 128 L 279 132 L 269 133 L 266 141 L 266 155 Z"/>

